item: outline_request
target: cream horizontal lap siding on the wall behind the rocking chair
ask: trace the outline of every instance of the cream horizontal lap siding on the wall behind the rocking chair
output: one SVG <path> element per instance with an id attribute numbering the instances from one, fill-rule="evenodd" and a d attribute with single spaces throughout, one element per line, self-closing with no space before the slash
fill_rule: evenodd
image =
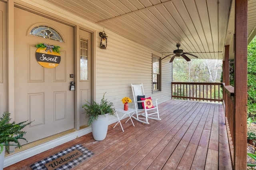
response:
<path id="1" fill-rule="evenodd" d="M 107 49 L 100 49 L 96 41 L 96 101 L 104 92 L 116 109 L 122 108 L 123 97 L 132 96 L 132 84 L 143 83 L 146 97 L 158 98 L 158 103 L 171 99 L 172 64 L 162 61 L 162 91 L 152 93 L 152 53 L 150 48 L 105 30 Z M 143 38 L 143 37 L 142 37 Z M 157 54 L 157 53 L 154 53 Z M 158 55 L 160 56 L 160 55 Z M 134 104 L 129 104 L 133 107 Z"/>

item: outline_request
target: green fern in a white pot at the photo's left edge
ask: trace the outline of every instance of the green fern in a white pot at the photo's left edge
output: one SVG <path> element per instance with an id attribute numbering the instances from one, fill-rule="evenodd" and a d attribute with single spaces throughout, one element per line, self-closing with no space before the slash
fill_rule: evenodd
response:
<path id="1" fill-rule="evenodd" d="M 21 131 L 24 127 L 29 125 L 31 122 L 28 121 L 20 122 L 16 124 L 14 121 L 10 123 L 10 113 L 4 112 L 0 118 L 0 162 L 1 166 L 4 166 L 4 152 L 5 149 L 9 151 L 8 146 L 21 147 L 19 139 L 27 141 L 23 136 L 26 134 L 25 131 Z M 28 141 L 27 141 L 28 142 Z M 3 167 L 0 167 L 0 169 Z"/>

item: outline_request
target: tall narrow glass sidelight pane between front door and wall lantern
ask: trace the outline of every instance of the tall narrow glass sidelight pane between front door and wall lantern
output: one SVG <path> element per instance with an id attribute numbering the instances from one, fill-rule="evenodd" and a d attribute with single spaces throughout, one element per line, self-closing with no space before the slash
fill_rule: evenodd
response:
<path id="1" fill-rule="evenodd" d="M 80 80 L 88 80 L 88 39 L 80 39 Z"/>

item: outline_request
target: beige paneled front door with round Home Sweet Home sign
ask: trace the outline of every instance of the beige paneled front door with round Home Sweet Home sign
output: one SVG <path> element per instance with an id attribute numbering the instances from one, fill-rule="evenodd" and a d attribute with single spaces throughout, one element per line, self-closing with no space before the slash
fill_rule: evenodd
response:
<path id="1" fill-rule="evenodd" d="M 30 143 L 74 128 L 74 28 L 19 8 L 14 13 L 15 121 L 33 121 L 24 129 Z M 39 25 L 58 31 L 64 42 L 29 35 Z M 45 68 L 36 61 L 40 43 L 61 47 L 58 66 Z"/>

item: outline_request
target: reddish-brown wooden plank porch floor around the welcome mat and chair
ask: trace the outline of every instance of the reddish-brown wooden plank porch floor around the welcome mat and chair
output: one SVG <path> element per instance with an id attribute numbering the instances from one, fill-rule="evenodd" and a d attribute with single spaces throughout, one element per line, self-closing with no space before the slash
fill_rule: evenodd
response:
<path id="1" fill-rule="evenodd" d="M 103 141 L 92 133 L 18 162 L 4 170 L 30 165 L 75 144 L 94 152 L 74 170 L 228 170 L 232 169 L 222 104 L 171 100 L 159 105 L 160 118 L 150 124 L 134 120 L 108 127 Z"/>

